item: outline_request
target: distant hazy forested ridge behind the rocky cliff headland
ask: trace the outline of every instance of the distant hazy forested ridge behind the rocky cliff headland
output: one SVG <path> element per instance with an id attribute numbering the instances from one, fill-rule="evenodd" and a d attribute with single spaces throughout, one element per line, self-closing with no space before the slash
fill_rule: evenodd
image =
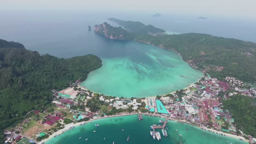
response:
<path id="1" fill-rule="evenodd" d="M 129 29 L 131 32 L 136 33 L 164 33 L 164 29 L 156 28 L 152 25 L 144 25 L 139 21 L 124 21 L 115 18 L 109 18 L 108 20 L 117 22 L 120 26 L 123 26 L 125 29 Z"/>

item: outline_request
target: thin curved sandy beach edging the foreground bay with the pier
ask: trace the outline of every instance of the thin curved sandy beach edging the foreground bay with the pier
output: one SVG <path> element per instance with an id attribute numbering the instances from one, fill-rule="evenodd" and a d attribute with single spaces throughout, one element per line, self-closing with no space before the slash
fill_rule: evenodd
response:
<path id="1" fill-rule="evenodd" d="M 130 116 L 130 115 L 138 115 L 138 114 L 166 118 L 165 116 L 161 116 L 161 115 L 157 115 L 157 114 L 151 114 L 151 113 L 125 113 L 125 114 L 121 114 L 121 115 L 113 115 L 113 116 L 106 116 L 106 117 L 93 118 L 93 119 L 90 119 L 89 121 L 86 121 L 86 122 L 67 124 L 67 125 L 65 125 L 65 128 L 56 131 L 55 133 L 53 133 L 52 135 L 50 135 L 47 139 L 44 139 L 44 140 L 40 141 L 38 144 L 42 144 L 43 142 L 46 142 L 46 141 L 48 141 L 48 140 L 50 140 L 50 139 L 53 139 L 55 135 L 62 134 L 63 131 L 67 131 L 67 130 L 69 130 L 69 128 L 71 128 L 71 127 L 80 126 L 80 124 L 83 124 L 83 123 L 86 123 L 86 124 L 87 124 L 87 123 L 91 123 L 92 121 L 95 121 L 95 120 L 97 120 L 97 119 L 104 119 L 104 118 L 110 118 L 110 117 L 121 117 L 121 116 Z M 179 120 L 179 119 L 169 118 L 168 120 L 190 124 L 190 123 L 188 123 L 188 122 L 186 122 L 186 121 Z M 193 125 L 193 124 L 190 124 L 190 125 Z M 194 126 L 197 127 L 197 128 L 201 128 L 201 127 L 198 127 L 198 126 L 196 126 L 196 125 L 194 125 Z M 232 135 L 232 134 L 228 134 L 228 133 L 223 133 L 222 131 L 218 131 L 218 130 L 214 130 L 214 129 L 208 129 L 208 128 L 201 128 L 201 129 L 202 129 L 202 130 L 206 130 L 206 131 L 209 131 L 209 130 L 210 130 L 212 133 L 213 133 L 213 131 L 214 131 L 215 134 L 223 134 L 223 135 L 232 137 L 232 138 L 234 138 L 234 139 L 238 139 L 238 140 L 242 139 L 243 141 L 249 142 L 248 140 L 245 139 L 245 137 L 242 137 L 242 136 L 237 136 L 237 135 Z M 64 132 L 64 133 L 65 133 L 65 132 Z"/>

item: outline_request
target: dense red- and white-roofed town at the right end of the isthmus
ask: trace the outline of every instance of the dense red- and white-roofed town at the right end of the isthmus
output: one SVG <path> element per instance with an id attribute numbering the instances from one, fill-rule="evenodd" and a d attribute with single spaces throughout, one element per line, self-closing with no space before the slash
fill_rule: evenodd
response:
<path id="1" fill-rule="evenodd" d="M 168 111 L 168 116 L 183 119 L 200 127 L 212 127 L 217 130 L 228 131 L 236 134 L 234 119 L 228 110 L 224 110 L 221 99 L 231 97 L 233 94 L 252 96 L 255 89 L 241 88 L 244 84 L 232 77 L 226 77 L 225 81 L 211 78 L 210 75 L 203 77 L 197 85 L 185 90 L 185 94 L 173 94 L 172 97 L 165 95 L 160 100 Z M 231 88 L 232 87 L 232 88 Z M 220 92 L 229 92 L 220 97 Z M 232 91 L 231 91 L 232 90 Z M 149 111 L 156 112 L 156 100 L 147 98 Z"/>

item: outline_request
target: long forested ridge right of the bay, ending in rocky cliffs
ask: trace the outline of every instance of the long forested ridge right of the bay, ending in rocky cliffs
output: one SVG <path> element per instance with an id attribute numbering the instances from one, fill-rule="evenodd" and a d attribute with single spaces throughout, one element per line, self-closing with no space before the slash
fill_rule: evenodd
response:
<path id="1" fill-rule="evenodd" d="M 193 68 L 210 73 L 213 77 L 223 80 L 225 76 L 236 77 L 245 82 L 256 82 L 256 44 L 252 42 L 214 37 L 209 34 L 142 34 L 126 31 L 121 27 L 96 29 L 96 33 L 107 32 L 113 39 L 134 40 L 150 43 L 181 54 L 184 61 Z M 98 25 L 97 25 L 98 26 Z M 99 25 L 101 26 L 101 25 Z"/>

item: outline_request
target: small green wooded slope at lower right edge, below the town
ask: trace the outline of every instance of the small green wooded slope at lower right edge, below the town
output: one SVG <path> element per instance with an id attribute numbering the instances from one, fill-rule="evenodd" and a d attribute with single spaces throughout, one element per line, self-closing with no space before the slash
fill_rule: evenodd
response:
<path id="1" fill-rule="evenodd" d="M 236 127 L 245 134 L 256 136 L 256 99 L 244 95 L 233 95 L 223 101 L 224 109 L 232 113 Z"/>

